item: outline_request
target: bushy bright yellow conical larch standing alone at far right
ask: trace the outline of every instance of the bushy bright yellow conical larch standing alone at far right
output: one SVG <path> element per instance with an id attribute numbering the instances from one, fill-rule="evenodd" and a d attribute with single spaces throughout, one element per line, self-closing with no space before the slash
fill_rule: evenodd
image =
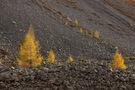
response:
<path id="1" fill-rule="evenodd" d="M 113 56 L 113 62 L 111 64 L 112 68 L 122 68 L 122 69 L 126 69 L 127 66 L 124 64 L 124 59 L 121 55 L 121 53 L 119 53 L 119 50 L 117 49 L 114 56 Z"/>

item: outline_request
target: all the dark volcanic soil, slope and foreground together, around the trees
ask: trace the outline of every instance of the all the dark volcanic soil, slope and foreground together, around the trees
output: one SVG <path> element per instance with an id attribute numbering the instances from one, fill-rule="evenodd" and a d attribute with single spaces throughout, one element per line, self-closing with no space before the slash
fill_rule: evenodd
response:
<path id="1" fill-rule="evenodd" d="M 125 61 L 127 70 L 108 67 L 115 46 L 124 57 L 135 56 L 134 3 L 134 0 L 1 0 L 0 89 L 134 90 L 134 60 Z M 75 19 L 79 22 L 77 27 Z M 56 64 L 44 61 L 38 69 L 16 65 L 20 42 L 30 24 L 35 28 L 42 55 L 46 58 L 47 51 L 53 49 Z M 80 28 L 83 33 L 79 33 Z M 99 39 L 89 37 L 86 33 L 89 30 L 98 31 Z M 69 55 L 74 62 L 65 61 Z M 80 55 L 84 61 L 79 61 Z"/>

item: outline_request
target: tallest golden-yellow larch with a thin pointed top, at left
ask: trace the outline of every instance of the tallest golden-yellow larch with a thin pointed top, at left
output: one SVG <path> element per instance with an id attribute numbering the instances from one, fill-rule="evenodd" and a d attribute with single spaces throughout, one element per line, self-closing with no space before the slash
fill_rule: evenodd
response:
<path id="1" fill-rule="evenodd" d="M 34 29 L 30 25 L 28 33 L 25 35 L 20 45 L 18 53 L 18 65 L 22 67 L 35 67 L 42 63 L 43 57 L 39 53 L 39 42 L 35 39 Z"/>

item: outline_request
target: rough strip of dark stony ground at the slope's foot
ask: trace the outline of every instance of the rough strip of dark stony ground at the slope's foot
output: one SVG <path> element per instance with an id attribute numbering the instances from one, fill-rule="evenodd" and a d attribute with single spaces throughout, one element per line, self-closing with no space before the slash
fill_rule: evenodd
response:
<path id="1" fill-rule="evenodd" d="M 8 56 L 2 61 L 1 90 L 135 90 L 135 60 L 125 61 L 126 70 L 111 69 L 111 60 L 44 60 L 37 68 L 18 67 Z"/>

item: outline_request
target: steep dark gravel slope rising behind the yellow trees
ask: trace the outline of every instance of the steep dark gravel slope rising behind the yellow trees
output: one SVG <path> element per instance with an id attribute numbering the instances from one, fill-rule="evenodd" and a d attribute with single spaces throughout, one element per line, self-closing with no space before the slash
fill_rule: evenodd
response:
<path id="1" fill-rule="evenodd" d="M 75 19 L 78 27 L 73 27 Z M 58 59 L 69 54 L 75 58 L 83 54 L 86 58 L 110 59 L 115 46 L 125 55 L 135 55 L 135 10 L 123 0 L 1 1 L 0 45 L 14 56 L 30 24 L 35 27 L 45 57 L 53 49 Z M 78 33 L 80 27 L 99 31 L 100 39 Z"/>

